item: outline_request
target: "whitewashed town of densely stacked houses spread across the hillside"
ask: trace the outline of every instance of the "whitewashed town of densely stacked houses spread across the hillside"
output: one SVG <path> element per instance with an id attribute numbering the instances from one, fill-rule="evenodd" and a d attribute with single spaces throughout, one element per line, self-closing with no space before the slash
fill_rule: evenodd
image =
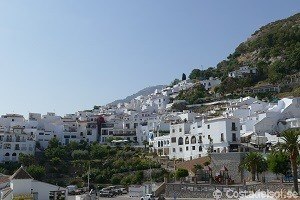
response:
<path id="1" fill-rule="evenodd" d="M 236 73 L 243 78 L 242 75 L 255 72 L 247 67 L 241 70 L 229 76 Z M 212 90 L 221 81 L 209 78 L 199 82 L 205 90 Z M 300 127 L 299 97 L 283 98 L 272 103 L 247 96 L 197 105 L 209 108 L 202 113 L 189 109 L 174 111 L 173 105 L 183 102 L 174 100 L 178 93 L 199 82 L 179 81 L 130 102 L 95 106 L 92 110 L 65 116 L 52 112 L 45 115 L 29 113 L 28 118 L 16 113 L 2 115 L 0 161 L 18 162 L 21 154 L 35 155 L 47 149 L 49 141 L 55 138 L 62 146 L 72 142 L 111 147 L 148 146 L 148 151 L 162 161 L 176 161 L 184 166 L 185 162 L 198 162 L 199 159 L 201 164 L 201 159 L 207 161 L 208 156 L 214 159 L 223 155 L 228 159 L 227 156 L 232 153 L 269 151 L 282 141 L 282 132 Z M 223 158 L 219 158 L 218 162 Z M 225 168 L 234 170 L 229 165 Z M 20 171 L 32 179 L 22 167 L 16 173 Z M 238 179 L 242 181 L 240 176 L 230 176 L 236 182 L 239 182 Z M 12 180 L 16 177 L 18 175 L 13 175 Z M 11 187 L 17 187 L 17 184 L 11 184 Z M 50 189 L 53 187 L 49 186 Z M 10 191 L 11 195 L 18 193 L 16 189 L 4 187 L 2 193 L 6 197 L 10 195 L 5 191 Z M 58 191 L 60 195 L 67 196 L 66 189 Z"/>

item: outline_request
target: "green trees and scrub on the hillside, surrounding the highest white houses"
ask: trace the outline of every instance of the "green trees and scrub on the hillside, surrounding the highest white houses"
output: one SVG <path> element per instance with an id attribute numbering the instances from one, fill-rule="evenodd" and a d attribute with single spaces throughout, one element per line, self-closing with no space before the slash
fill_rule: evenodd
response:
<path id="1" fill-rule="evenodd" d="M 256 67 L 258 74 L 245 78 L 228 77 L 230 71 L 245 65 Z M 300 13 L 261 27 L 215 68 L 194 69 L 189 78 L 219 77 L 222 83 L 215 92 L 226 94 L 241 91 L 258 83 L 281 84 L 288 81 L 291 75 L 299 75 L 299 70 Z M 296 86 L 293 87 L 288 88 L 288 92 L 296 89 Z"/>

